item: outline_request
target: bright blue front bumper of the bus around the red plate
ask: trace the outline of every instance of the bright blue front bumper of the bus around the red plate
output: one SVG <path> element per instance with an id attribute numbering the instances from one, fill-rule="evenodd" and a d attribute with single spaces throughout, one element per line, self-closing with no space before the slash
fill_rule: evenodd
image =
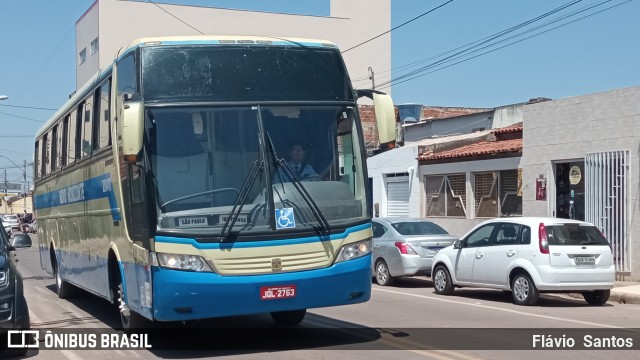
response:
<path id="1" fill-rule="evenodd" d="M 261 288 L 295 286 L 295 296 L 263 300 Z M 290 295 L 290 294 L 289 294 Z M 184 321 L 355 304 L 371 297 L 371 255 L 324 269 L 221 276 L 153 268 L 153 313 Z"/>

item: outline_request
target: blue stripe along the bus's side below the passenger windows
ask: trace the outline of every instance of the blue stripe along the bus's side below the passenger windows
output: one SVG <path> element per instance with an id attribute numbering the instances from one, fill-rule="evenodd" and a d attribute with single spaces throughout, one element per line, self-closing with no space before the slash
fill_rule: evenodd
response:
<path id="1" fill-rule="evenodd" d="M 109 199 L 113 220 L 122 220 L 118 211 L 116 195 L 113 192 L 111 174 L 103 174 L 62 189 L 37 195 L 33 199 L 33 206 L 36 210 L 42 210 L 102 198 Z"/>

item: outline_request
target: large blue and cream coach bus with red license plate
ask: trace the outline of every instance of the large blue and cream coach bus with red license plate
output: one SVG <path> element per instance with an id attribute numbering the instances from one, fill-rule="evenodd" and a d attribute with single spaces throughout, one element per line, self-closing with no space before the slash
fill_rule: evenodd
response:
<path id="1" fill-rule="evenodd" d="M 364 93 L 392 143 L 390 97 Z M 133 41 L 36 135 L 40 260 L 58 295 L 110 300 L 123 328 L 256 313 L 291 325 L 369 300 L 358 96 L 327 41 Z M 318 176 L 292 171 L 294 142 Z"/>

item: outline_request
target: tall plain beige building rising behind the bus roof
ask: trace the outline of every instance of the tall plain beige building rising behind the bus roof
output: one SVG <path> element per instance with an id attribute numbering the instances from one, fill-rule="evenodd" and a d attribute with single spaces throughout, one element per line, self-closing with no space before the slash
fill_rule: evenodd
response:
<path id="1" fill-rule="evenodd" d="M 390 28 L 391 0 L 331 0 L 330 16 L 96 0 L 76 22 L 76 88 L 107 68 L 133 39 L 201 34 L 328 40 L 343 51 L 351 78 L 366 79 L 369 68 L 391 69 L 391 34 L 357 45 Z"/>

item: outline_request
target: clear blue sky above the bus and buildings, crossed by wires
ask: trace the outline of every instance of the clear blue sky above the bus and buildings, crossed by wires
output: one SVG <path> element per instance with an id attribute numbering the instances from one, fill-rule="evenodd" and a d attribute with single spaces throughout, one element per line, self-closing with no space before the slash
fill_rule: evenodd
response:
<path id="1" fill-rule="evenodd" d="M 9 96 L 8 100 L 0 101 L 0 155 L 17 164 L 24 160 L 32 161 L 35 133 L 54 111 L 20 106 L 57 109 L 75 90 L 75 22 L 93 2 L 0 2 L 0 95 Z M 329 15 L 329 0 L 163 2 Z M 392 27 L 445 2 L 447 0 L 392 0 Z M 419 61 L 422 61 L 421 66 L 431 65 L 441 59 L 432 59 L 436 55 L 487 38 L 567 3 L 570 1 L 454 0 L 391 33 L 393 69 L 374 69 L 376 84 L 419 68 L 405 65 Z M 626 3 L 624 0 L 583 0 L 505 37 L 600 3 L 603 4 L 593 10 L 567 17 L 471 56 L 598 10 L 622 5 L 444 69 L 431 67 L 428 71 L 436 71 L 418 73 L 422 76 L 392 85 L 394 101 L 396 104 L 495 107 L 539 96 L 557 99 L 640 85 L 639 0 Z M 375 40 L 362 46 L 375 46 Z M 363 86 L 367 81 L 354 83 Z M 9 181 L 22 181 L 22 172 L 9 160 L 0 157 L 0 178 L 5 168 Z M 28 175 L 32 182 L 31 169 Z"/>

